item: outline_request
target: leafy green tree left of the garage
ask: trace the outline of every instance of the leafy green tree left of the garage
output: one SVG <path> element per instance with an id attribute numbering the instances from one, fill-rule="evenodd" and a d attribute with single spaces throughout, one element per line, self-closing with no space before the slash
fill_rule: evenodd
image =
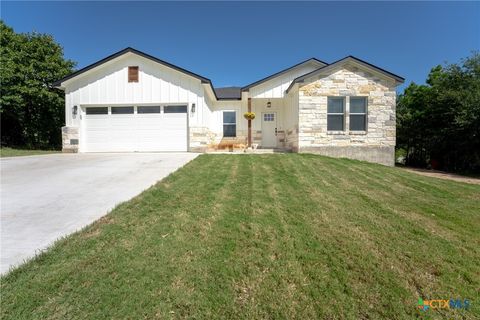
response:
<path id="1" fill-rule="evenodd" d="M 73 71 L 52 36 L 15 33 L 0 20 L 0 113 L 2 145 L 52 149 L 61 146 L 64 94 L 51 84 Z"/>

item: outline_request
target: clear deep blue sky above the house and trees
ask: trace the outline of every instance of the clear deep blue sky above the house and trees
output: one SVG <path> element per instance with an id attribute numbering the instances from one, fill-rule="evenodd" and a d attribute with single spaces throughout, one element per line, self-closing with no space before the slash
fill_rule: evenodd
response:
<path id="1" fill-rule="evenodd" d="M 310 57 L 354 55 L 424 83 L 480 49 L 479 2 L 5 2 L 17 32 L 52 34 L 84 67 L 131 46 L 246 85 Z"/>

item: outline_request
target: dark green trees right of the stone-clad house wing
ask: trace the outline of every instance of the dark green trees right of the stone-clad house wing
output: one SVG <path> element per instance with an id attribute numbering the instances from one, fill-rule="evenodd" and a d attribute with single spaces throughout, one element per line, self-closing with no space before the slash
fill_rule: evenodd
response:
<path id="1" fill-rule="evenodd" d="M 480 54 L 434 67 L 426 85 L 410 84 L 397 103 L 397 145 L 406 163 L 480 170 Z"/>

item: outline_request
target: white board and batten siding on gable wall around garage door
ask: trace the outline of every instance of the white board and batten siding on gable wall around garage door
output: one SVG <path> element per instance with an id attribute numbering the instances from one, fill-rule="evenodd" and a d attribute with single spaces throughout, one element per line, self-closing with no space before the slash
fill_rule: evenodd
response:
<path id="1" fill-rule="evenodd" d="M 139 67 L 139 82 L 128 82 L 128 67 Z M 80 126 L 72 117 L 72 107 L 86 105 L 141 105 L 195 103 L 190 125 L 203 123 L 209 116 L 204 86 L 199 79 L 128 53 L 65 82 L 66 125 Z"/>

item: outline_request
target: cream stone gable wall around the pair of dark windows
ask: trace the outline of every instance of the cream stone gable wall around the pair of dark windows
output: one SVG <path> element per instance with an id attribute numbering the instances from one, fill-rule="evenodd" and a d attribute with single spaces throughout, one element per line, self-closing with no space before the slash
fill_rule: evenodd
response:
<path id="1" fill-rule="evenodd" d="M 345 96 L 345 131 L 327 132 L 327 97 Z M 367 96 L 367 130 L 349 131 L 349 97 Z M 394 165 L 395 84 L 356 67 L 299 88 L 299 152 Z"/>

